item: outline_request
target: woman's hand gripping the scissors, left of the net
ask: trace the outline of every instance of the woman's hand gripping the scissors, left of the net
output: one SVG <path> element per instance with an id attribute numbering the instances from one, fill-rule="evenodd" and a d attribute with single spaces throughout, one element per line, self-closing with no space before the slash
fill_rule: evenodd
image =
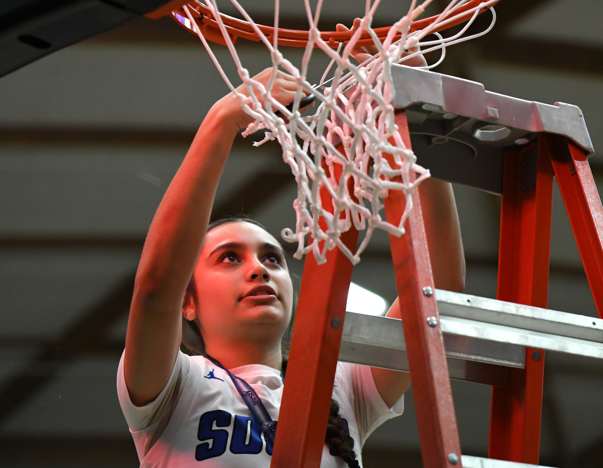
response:
<path id="1" fill-rule="evenodd" d="M 270 78 L 273 73 L 273 68 L 267 68 L 257 75 L 251 78 L 254 81 L 261 83 L 264 87 L 268 86 Z M 287 105 L 294 101 L 295 93 L 297 92 L 298 84 L 295 81 L 294 76 L 288 73 L 276 70 L 276 77 L 274 78 L 273 87 L 271 90 L 271 96 L 280 102 L 280 104 Z M 249 96 L 247 87 L 244 84 L 239 86 L 236 91 L 244 96 Z M 259 98 L 259 90 L 254 90 L 256 97 Z M 308 92 L 303 91 L 302 95 L 305 97 Z M 247 127 L 253 122 L 253 117 L 245 113 L 243 110 L 241 101 L 235 95 L 235 93 L 229 93 L 220 99 L 214 107 L 219 108 L 221 115 L 224 117 L 225 122 L 232 122 L 232 125 L 236 126 L 235 131 L 239 131 L 241 128 Z"/>

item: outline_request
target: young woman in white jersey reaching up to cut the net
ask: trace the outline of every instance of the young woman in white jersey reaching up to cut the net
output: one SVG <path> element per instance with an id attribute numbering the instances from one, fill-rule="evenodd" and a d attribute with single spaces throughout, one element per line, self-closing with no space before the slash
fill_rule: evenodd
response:
<path id="1" fill-rule="evenodd" d="M 271 72 L 256 79 L 267 83 Z M 288 103 L 295 90 L 293 78 L 277 72 L 273 96 Z M 277 420 L 291 278 L 279 242 L 256 223 L 239 220 L 208 229 L 233 139 L 249 122 L 232 94 L 213 105 L 148 232 L 118 370 L 119 400 L 141 466 L 270 466 L 272 446 L 235 376 L 251 385 Z M 462 290 L 463 249 L 452 189 L 428 179 L 420 192 L 435 284 Z M 396 301 L 388 315 L 399 313 Z M 182 317 L 202 337 L 205 357 L 179 351 Z M 339 364 L 321 467 L 361 466 L 364 440 L 401 413 L 409 383 L 407 373 Z"/>

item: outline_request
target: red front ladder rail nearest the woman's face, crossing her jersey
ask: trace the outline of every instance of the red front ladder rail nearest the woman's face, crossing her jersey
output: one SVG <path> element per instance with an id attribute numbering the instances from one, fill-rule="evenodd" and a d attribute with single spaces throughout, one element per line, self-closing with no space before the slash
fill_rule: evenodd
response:
<path id="1" fill-rule="evenodd" d="M 330 206 L 326 190 L 321 199 Z M 341 240 L 355 251 L 358 231 L 352 226 Z M 272 468 L 320 466 L 353 268 L 339 249 L 326 258 L 318 265 L 314 255 L 306 256 Z"/>

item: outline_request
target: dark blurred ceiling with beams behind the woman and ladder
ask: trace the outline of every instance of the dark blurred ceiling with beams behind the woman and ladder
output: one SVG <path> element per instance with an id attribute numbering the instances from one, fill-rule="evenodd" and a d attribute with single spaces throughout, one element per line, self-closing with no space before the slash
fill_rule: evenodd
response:
<path id="1" fill-rule="evenodd" d="M 289 27 L 307 28 L 300 3 L 283 2 Z M 383 4 L 376 23 L 402 16 L 401 3 Z M 324 29 L 362 13 L 340 5 L 326 3 Z M 597 150 L 600 5 L 502 0 L 494 30 L 452 46 L 435 71 L 517 98 L 578 105 Z M 270 23 L 270 2 L 262 8 L 254 17 Z M 238 83 L 224 48 L 215 49 Z M 237 49 L 252 73 L 269 64 L 263 46 L 240 40 Z M 300 62 L 300 51 L 283 52 Z M 317 55 L 315 79 L 324 66 Z M 134 272 L 163 192 L 226 92 L 200 41 L 169 18 L 131 20 L 0 78 L 0 466 L 137 466 L 115 391 Z M 598 154 L 590 161 L 600 184 L 603 164 Z M 461 186 L 455 193 L 466 292 L 495 297 L 500 199 Z M 278 236 L 294 223 L 294 198 L 279 147 L 236 140 L 216 214 L 245 211 Z M 549 307 L 596 316 L 557 189 L 553 216 Z M 391 301 L 388 255 L 377 236 L 353 281 Z M 289 264 L 301 273 L 301 262 Z M 602 390 L 598 361 L 546 355 L 541 464 L 603 466 Z M 485 456 L 490 388 L 453 382 L 453 393 L 463 453 Z M 421 466 L 412 392 L 405 414 L 371 436 L 364 460 L 367 468 Z"/>

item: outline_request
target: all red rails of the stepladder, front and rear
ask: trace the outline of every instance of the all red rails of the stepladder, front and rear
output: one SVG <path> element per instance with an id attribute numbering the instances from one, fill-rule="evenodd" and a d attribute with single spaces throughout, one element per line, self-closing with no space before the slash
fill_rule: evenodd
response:
<path id="1" fill-rule="evenodd" d="M 405 111 L 397 111 L 396 119 L 410 145 Z M 522 167 L 529 164 L 537 166 L 535 180 L 522 176 Z M 550 134 L 540 134 L 538 143 L 523 151 L 505 153 L 498 298 L 546 307 L 554 175 L 603 318 L 601 201 L 584 151 Z M 402 215 L 402 197 L 391 191 L 385 199 L 387 219 L 394 225 Z M 423 464 L 452 468 L 461 466 L 461 450 L 416 191 L 412 198 L 405 236 L 390 236 L 396 287 L 407 305 L 402 308 L 403 330 Z M 353 229 L 343 236 L 352 251 L 357 240 Z M 306 257 L 273 468 L 320 466 L 351 278 L 352 264 L 337 249 L 322 265 Z M 435 317 L 436 326 L 429 325 L 428 317 Z M 528 348 L 526 368 L 509 369 L 506 387 L 494 388 L 491 458 L 538 463 L 543 365 L 544 352 Z"/>

